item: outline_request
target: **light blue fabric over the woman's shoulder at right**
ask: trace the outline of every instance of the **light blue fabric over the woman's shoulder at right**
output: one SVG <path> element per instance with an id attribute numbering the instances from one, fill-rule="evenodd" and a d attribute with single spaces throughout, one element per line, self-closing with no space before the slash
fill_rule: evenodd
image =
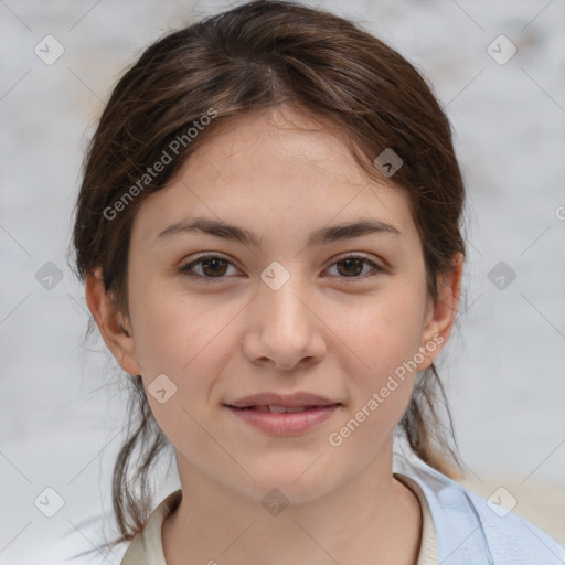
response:
<path id="1" fill-rule="evenodd" d="M 429 505 L 443 565 L 563 565 L 565 548 L 540 527 L 426 465 L 395 457 L 394 471 L 412 478 Z"/>

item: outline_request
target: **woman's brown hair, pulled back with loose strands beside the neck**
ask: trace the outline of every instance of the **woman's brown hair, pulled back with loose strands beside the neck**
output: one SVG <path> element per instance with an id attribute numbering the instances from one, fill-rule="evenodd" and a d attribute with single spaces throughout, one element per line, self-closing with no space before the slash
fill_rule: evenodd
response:
<path id="1" fill-rule="evenodd" d="M 429 296 L 436 298 L 438 276 L 449 274 L 455 256 L 465 254 L 459 226 L 465 189 L 448 119 L 426 81 L 393 49 L 345 19 L 289 1 L 253 1 L 169 33 L 119 79 L 83 164 L 73 233 L 81 280 L 102 266 L 106 290 L 127 316 L 129 237 L 138 206 L 173 179 L 220 124 L 280 104 L 343 132 L 356 162 L 373 178 L 383 178 L 373 164 L 383 150 L 402 158 L 391 181 L 409 198 Z M 211 108 L 217 117 L 198 136 L 190 135 Z M 147 175 L 147 168 L 179 139 L 184 143 L 177 141 L 174 159 L 154 177 Z M 87 333 L 93 328 L 90 319 Z M 153 507 L 149 471 L 169 445 L 141 380 L 129 376 L 128 422 L 134 422 L 136 407 L 139 414 L 114 469 L 113 504 L 121 536 L 108 545 L 142 531 Z M 456 477 L 451 462 L 460 465 L 449 445 L 455 441 L 452 423 L 434 365 L 417 375 L 399 428 L 424 461 Z M 142 452 L 130 478 L 137 446 Z M 130 487 L 136 481 L 139 500 Z"/>

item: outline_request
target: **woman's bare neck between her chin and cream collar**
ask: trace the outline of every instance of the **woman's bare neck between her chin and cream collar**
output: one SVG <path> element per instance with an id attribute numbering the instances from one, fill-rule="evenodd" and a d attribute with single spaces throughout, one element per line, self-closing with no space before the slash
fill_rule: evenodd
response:
<path id="1" fill-rule="evenodd" d="M 291 562 L 414 565 L 422 536 L 417 497 L 392 475 L 390 457 L 323 497 L 276 507 L 236 492 L 178 459 L 183 499 L 163 523 L 168 565 Z M 375 458 L 376 459 L 376 458 Z M 267 489 L 269 490 L 269 489 Z"/>

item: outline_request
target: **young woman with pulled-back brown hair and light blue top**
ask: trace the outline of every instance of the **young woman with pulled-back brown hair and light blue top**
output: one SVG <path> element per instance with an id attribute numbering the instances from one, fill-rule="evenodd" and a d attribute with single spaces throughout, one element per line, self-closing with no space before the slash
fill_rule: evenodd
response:
<path id="1" fill-rule="evenodd" d="M 114 475 L 122 565 L 564 562 L 454 480 L 434 361 L 463 193 L 426 82 L 344 19 L 250 2 L 145 51 L 74 230 L 141 415 Z M 167 446 L 181 489 L 159 502 Z"/>

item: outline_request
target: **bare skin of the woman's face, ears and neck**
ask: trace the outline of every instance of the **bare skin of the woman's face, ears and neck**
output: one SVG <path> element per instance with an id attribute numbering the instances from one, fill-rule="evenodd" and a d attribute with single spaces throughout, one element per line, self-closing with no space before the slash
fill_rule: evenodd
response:
<path id="1" fill-rule="evenodd" d="M 113 307 L 99 269 L 88 277 L 88 306 L 124 371 L 141 375 L 146 391 L 162 373 L 177 386 L 163 404 L 148 393 L 184 493 L 163 524 L 168 564 L 416 563 L 420 507 L 392 473 L 393 431 L 416 372 L 340 446 L 328 440 L 440 337 L 417 370 L 429 366 L 454 322 L 461 258 L 433 301 L 408 200 L 393 179 L 369 179 L 340 136 L 288 107 L 248 114 L 137 212 L 129 316 Z M 157 239 L 189 215 L 253 230 L 262 247 L 195 232 Z M 361 216 L 399 234 L 305 247 L 310 232 Z M 203 252 L 231 263 L 198 264 L 201 278 L 179 273 Z M 344 265 L 351 254 L 386 270 Z M 260 278 L 274 260 L 290 275 L 278 290 Z M 223 406 L 267 391 L 343 406 L 294 437 L 260 431 Z M 290 501 L 278 515 L 262 504 L 273 488 Z"/>

